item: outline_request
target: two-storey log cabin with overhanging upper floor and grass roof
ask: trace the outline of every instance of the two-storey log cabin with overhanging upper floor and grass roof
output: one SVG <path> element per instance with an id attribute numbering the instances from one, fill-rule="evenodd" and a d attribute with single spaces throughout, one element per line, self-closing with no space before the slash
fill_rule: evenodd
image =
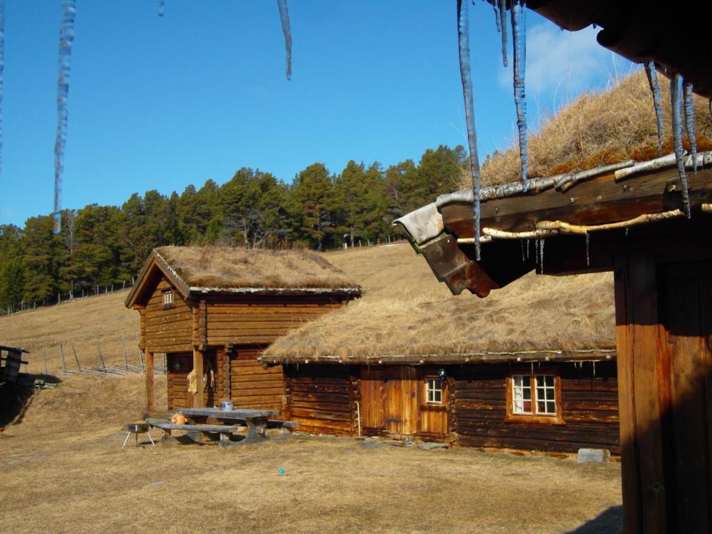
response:
<path id="1" fill-rule="evenodd" d="M 155 353 L 166 354 L 168 409 L 224 400 L 281 409 L 281 368 L 265 370 L 256 358 L 360 295 L 317 253 L 165 246 L 152 251 L 125 305 L 140 313 L 147 370 Z M 146 412 L 155 412 L 152 372 L 146 392 Z"/>

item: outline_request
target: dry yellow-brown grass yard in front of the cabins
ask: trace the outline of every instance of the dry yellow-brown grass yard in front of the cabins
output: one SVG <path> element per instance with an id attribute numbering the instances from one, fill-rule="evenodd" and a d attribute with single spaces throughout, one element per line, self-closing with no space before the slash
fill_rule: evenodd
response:
<path id="1" fill-rule="evenodd" d="M 298 435 L 122 451 L 142 404 L 137 375 L 39 392 L 0 433 L 0 532 L 619 531 L 619 464 Z"/>

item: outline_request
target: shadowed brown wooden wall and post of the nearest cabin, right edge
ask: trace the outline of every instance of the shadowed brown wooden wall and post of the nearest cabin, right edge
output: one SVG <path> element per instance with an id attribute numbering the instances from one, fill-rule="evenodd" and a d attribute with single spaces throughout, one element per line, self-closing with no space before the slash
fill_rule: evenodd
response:
<path id="1" fill-rule="evenodd" d="M 712 532 L 712 261 L 669 258 L 614 258 L 627 534 Z"/>

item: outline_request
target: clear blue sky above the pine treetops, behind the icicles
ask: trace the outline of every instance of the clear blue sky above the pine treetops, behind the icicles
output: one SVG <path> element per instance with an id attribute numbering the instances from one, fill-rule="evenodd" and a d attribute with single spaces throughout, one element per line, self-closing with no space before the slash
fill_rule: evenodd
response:
<path id="1" fill-rule="evenodd" d="M 291 0 L 291 81 L 276 1 L 166 0 L 163 17 L 156 4 L 78 0 L 63 207 L 221 184 L 240 167 L 290 182 L 313 162 L 387 167 L 466 145 L 454 0 Z M 483 158 L 511 145 L 515 110 L 491 6 L 470 9 Z M 595 29 L 527 15 L 531 127 L 633 68 Z M 61 0 L 6 0 L 0 224 L 53 209 L 60 19 Z"/>

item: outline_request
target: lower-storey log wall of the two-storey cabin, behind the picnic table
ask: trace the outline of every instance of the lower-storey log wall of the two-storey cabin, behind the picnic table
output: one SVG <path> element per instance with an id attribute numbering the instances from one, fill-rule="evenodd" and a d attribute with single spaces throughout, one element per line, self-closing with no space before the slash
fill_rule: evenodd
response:
<path id="1" fill-rule="evenodd" d="M 231 400 L 236 408 L 282 410 L 284 375 L 281 366 L 264 369 L 257 348 L 236 350 L 230 355 Z M 220 380 L 224 383 L 224 380 Z"/>

